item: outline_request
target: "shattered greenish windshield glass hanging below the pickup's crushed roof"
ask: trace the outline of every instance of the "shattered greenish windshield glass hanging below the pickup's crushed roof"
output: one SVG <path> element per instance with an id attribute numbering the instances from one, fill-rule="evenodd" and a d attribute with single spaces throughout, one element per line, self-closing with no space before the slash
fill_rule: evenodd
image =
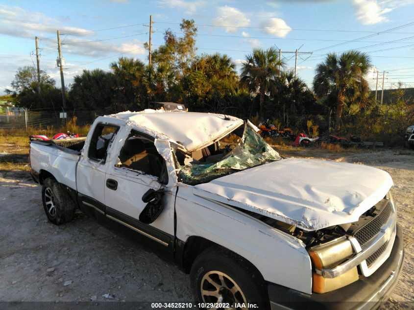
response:
<path id="1" fill-rule="evenodd" d="M 234 137 L 237 137 L 235 132 L 238 130 L 243 136 L 238 139 L 235 146 L 231 145 L 229 140 L 237 140 Z M 225 147 L 220 148 L 223 143 L 226 144 Z M 185 160 L 184 165 L 179 165 L 178 175 L 184 183 L 205 183 L 231 172 L 281 159 L 279 154 L 246 123 L 214 146 L 217 150 L 215 154 L 205 148 L 200 154 L 203 155 L 201 158 L 194 158 L 196 155 L 193 155 L 193 158 Z M 210 149 L 213 148 L 210 146 Z"/>

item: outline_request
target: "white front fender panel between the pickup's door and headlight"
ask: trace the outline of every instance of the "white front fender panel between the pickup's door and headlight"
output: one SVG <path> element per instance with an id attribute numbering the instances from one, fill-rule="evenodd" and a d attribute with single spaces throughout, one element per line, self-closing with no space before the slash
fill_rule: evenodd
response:
<path id="1" fill-rule="evenodd" d="M 218 205 L 180 186 L 176 200 L 177 238 L 200 236 L 241 255 L 265 280 L 312 293 L 312 266 L 305 245 L 263 222 Z"/>

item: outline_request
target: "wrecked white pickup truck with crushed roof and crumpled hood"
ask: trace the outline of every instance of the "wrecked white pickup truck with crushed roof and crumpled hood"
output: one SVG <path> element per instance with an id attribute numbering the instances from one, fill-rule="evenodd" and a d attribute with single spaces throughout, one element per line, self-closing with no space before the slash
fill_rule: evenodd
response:
<path id="1" fill-rule="evenodd" d="M 248 120 L 145 110 L 32 142 L 46 215 L 74 210 L 190 273 L 204 308 L 375 309 L 403 266 L 390 175 L 282 158 Z M 81 242 L 79 240 L 79 242 Z"/>

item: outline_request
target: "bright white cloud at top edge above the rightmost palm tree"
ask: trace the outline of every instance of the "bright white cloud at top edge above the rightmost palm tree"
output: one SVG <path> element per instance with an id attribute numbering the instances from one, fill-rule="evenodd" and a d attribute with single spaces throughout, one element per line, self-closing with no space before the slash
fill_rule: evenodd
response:
<path id="1" fill-rule="evenodd" d="M 386 1 L 377 0 L 353 0 L 357 20 L 362 24 L 378 24 L 388 22 L 384 14 L 392 11 L 391 7 L 384 7 Z"/>

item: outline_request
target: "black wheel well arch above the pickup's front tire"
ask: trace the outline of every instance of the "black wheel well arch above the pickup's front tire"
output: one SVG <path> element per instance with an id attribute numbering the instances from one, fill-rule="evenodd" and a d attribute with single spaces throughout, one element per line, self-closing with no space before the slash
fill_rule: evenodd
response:
<path id="1" fill-rule="evenodd" d="M 235 260 L 243 261 L 247 265 L 249 265 L 251 268 L 256 270 L 258 274 L 262 277 L 262 273 L 259 271 L 259 269 L 256 268 L 256 266 L 245 259 L 243 256 L 213 242 L 206 238 L 198 237 L 198 236 L 191 236 L 187 239 L 185 246 L 184 246 L 184 252 L 183 252 L 183 269 L 185 273 L 190 273 L 191 266 L 193 265 L 193 262 L 197 258 L 198 255 L 200 255 L 203 251 L 205 251 L 207 248 L 215 247 L 219 248 L 221 251 L 227 252 L 230 254 L 232 258 Z"/>

